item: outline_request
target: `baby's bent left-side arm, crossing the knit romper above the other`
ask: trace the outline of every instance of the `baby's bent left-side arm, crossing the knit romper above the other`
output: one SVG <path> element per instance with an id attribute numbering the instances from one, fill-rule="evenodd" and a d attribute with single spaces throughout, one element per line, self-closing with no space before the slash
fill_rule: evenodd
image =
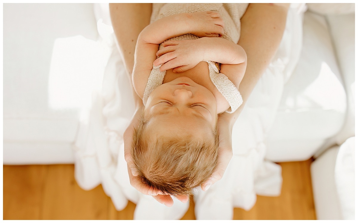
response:
<path id="1" fill-rule="evenodd" d="M 224 33 L 223 20 L 213 11 L 181 13 L 167 16 L 146 26 L 138 36 L 135 50 L 133 83 L 139 96 L 144 92 L 145 83 L 136 82 L 149 77 L 156 59 L 159 44 L 182 34 L 192 33 L 198 37 L 216 37 Z"/>

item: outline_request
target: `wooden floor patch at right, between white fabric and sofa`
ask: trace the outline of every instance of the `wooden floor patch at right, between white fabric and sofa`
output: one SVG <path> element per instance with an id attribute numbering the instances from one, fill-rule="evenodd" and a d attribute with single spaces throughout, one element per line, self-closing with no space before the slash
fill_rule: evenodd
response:
<path id="1" fill-rule="evenodd" d="M 245 211 L 234 208 L 234 220 L 315 220 L 311 184 L 312 160 L 279 163 L 282 188 L 279 197 L 257 196 L 254 207 Z"/>

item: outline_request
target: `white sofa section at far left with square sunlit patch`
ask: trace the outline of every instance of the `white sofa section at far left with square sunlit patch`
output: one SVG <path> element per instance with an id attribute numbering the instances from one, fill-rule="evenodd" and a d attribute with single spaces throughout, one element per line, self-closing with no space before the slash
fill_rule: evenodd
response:
<path id="1" fill-rule="evenodd" d="M 89 79 L 89 74 L 64 63 L 71 59 L 78 65 L 86 57 L 64 57 L 59 53 L 68 48 L 55 43 L 78 36 L 96 43 L 93 4 L 4 4 L 3 12 L 4 164 L 73 162 L 69 145 L 83 97 L 69 92 L 86 89 L 86 79 L 78 77 Z M 83 72 L 91 70 L 91 64 L 84 65 Z M 71 103 L 64 105 L 59 95 Z M 66 155 L 58 156 L 61 152 Z"/>

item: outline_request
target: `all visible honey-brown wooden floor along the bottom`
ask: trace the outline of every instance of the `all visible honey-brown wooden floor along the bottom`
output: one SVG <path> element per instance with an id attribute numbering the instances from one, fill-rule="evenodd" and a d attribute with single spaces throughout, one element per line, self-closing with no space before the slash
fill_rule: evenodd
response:
<path id="1" fill-rule="evenodd" d="M 311 187 L 311 160 L 280 163 L 279 197 L 257 196 L 250 211 L 235 208 L 233 219 L 316 219 Z M 74 165 L 3 166 L 3 219 L 131 220 L 135 204 L 117 211 L 102 186 L 85 191 L 74 179 Z M 193 220 L 194 203 L 182 219 Z"/>

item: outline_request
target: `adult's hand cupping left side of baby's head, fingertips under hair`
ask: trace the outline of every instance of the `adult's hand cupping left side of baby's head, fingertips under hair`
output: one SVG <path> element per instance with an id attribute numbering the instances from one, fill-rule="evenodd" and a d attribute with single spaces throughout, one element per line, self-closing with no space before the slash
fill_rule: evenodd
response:
<path id="1" fill-rule="evenodd" d="M 128 175 L 131 185 L 137 189 L 142 194 L 146 195 L 152 195 L 154 199 L 156 199 L 161 204 L 165 204 L 166 206 L 170 207 L 173 205 L 173 199 L 170 197 L 170 195 L 166 195 L 163 192 L 156 190 L 152 187 L 149 187 L 142 183 L 140 178 L 138 177 L 138 174 L 136 173 L 136 168 L 132 160 L 131 155 L 131 145 L 133 141 L 133 133 L 134 129 L 139 124 L 139 119 L 141 115 L 142 107 L 137 108 L 134 116 L 132 117 L 132 120 L 127 127 L 126 131 L 123 135 L 124 140 L 124 159 L 127 162 L 127 169 L 128 169 Z M 176 197 L 178 200 L 180 200 L 183 203 L 186 203 L 189 200 L 189 197 L 187 195 L 178 196 Z"/>

